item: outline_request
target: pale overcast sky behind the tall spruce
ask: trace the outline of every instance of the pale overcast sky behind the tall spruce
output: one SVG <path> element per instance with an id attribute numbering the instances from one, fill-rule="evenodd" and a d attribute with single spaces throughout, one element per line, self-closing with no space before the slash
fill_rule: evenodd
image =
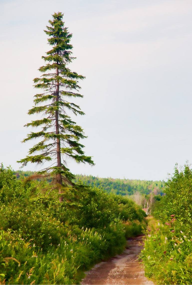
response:
<path id="1" fill-rule="evenodd" d="M 1 0 L 0 162 L 20 167 L 31 142 L 33 78 L 49 50 L 43 32 L 64 13 L 86 113 L 76 118 L 94 167 L 68 162 L 73 173 L 166 180 L 192 162 L 192 1 Z M 28 165 L 28 170 L 37 170 Z"/>

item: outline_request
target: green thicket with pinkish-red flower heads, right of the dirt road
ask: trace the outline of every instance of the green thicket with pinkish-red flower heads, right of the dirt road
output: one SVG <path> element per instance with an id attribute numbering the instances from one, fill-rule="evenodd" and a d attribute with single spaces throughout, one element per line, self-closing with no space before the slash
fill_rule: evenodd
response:
<path id="1" fill-rule="evenodd" d="M 192 170 L 175 168 L 154 211 L 157 224 L 148 235 L 142 259 L 155 284 L 192 284 Z M 157 204 L 156 204 L 157 205 Z"/>

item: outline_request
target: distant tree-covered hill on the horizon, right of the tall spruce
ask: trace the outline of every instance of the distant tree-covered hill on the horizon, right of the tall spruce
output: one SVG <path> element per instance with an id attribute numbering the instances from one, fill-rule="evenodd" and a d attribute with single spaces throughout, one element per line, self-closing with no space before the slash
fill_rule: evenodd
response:
<path id="1" fill-rule="evenodd" d="M 79 180 L 86 185 L 101 186 L 106 192 L 117 195 L 132 195 L 135 191 L 143 194 L 154 192 L 155 195 L 158 195 L 163 193 L 165 184 L 164 181 L 99 178 L 77 174 L 75 182 Z"/>

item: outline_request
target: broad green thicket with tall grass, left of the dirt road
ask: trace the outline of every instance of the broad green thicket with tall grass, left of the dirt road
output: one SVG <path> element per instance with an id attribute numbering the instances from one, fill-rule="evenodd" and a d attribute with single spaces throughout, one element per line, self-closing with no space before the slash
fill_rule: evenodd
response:
<path id="1" fill-rule="evenodd" d="M 143 229 L 145 213 L 129 199 L 84 187 L 60 203 L 48 186 L 0 168 L 1 284 L 79 284 Z"/>

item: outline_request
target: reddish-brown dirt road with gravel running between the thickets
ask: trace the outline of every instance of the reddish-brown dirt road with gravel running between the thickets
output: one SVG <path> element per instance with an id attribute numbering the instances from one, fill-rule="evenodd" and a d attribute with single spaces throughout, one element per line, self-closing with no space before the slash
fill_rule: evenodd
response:
<path id="1" fill-rule="evenodd" d="M 144 269 L 137 261 L 143 246 L 142 237 L 127 241 L 127 248 L 106 262 L 96 264 L 81 284 L 153 284 L 144 276 Z"/>

